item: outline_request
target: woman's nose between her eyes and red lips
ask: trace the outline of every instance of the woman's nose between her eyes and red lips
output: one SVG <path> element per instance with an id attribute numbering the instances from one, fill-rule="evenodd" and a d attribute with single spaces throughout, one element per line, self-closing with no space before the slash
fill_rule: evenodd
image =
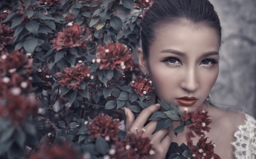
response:
<path id="1" fill-rule="evenodd" d="M 183 80 L 181 81 L 181 88 L 187 92 L 195 92 L 199 88 L 198 77 L 195 69 L 189 69 L 184 72 Z"/>

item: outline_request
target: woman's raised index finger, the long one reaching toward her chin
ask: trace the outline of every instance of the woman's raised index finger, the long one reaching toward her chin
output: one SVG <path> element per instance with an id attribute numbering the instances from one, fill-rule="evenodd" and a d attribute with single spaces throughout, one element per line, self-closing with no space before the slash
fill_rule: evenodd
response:
<path id="1" fill-rule="evenodd" d="M 154 104 L 148 106 L 148 108 L 143 109 L 141 114 L 137 117 L 131 127 L 144 127 L 144 124 L 147 122 L 148 117 L 157 111 L 160 108 L 160 104 Z"/>

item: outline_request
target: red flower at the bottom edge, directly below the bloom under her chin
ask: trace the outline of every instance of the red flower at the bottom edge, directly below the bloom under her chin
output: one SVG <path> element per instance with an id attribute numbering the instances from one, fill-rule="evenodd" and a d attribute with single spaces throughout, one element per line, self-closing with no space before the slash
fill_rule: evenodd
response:
<path id="1" fill-rule="evenodd" d="M 190 149 L 193 158 L 195 159 L 216 159 L 220 158 L 216 153 L 214 153 L 213 149 L 216 146 L 215 144 L 212 144 L 212 141 L 209 143 L 207 142 L 208 137 L 202 136 L 201 139 L 199 139 L 199 143 L 197 146 L 193 146 L 193 141 L 188 141 L 188 148 Z"/>

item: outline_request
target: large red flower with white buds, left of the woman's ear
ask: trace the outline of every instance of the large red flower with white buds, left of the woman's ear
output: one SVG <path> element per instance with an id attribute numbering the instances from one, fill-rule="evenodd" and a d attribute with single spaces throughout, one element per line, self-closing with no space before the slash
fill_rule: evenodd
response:
<path id="1" fill-rule="evenodd" d="M 133 67 L 131 50 L 119 42 L 108 42 L 106 46 L 99 46 L 94 61 L 100 65 L 100 70 L 122 70 Z M 94 62 L 93 61 L 93 62 Z"/>

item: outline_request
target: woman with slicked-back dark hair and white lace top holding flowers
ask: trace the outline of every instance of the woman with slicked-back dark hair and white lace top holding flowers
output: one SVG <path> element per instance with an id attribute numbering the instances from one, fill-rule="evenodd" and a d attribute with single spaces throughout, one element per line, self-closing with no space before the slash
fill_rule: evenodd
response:
<path id="1" fill-rule="evenodd" d="M 221 158 L 255 158 L 253 117 L 204 102 L 219 70 L 221 25 L 213 5 L 208 0 L 155 1 L 143 18 L 141 37 L 139 66 L 151 78 L 158 98 L 178 105 L 181 111 L 195 111 L 199 106 L 207 110 L 212 123 L 206 137 L 217 145 L 214 153 Z M 125 130 L 146 130 L 144 136 L 150 137 L 155 147 L 152 158 L 164 158 L 172 141 L 185 143 L 187 132 L 175 136 L 171 130 L 179 122 L 156 133 L 156 121 L 144 126 L 159 108 L 159 104 L 151 105 L 137 119 L 129 109 L 125 110 Z"/>

